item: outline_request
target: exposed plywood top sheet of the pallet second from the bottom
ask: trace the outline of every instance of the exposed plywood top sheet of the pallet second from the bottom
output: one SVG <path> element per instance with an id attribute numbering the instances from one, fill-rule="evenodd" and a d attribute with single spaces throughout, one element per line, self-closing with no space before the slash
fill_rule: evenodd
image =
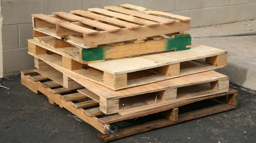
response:
<path id="1" fill-rule="evenodd" d="M 169 87 L 177 88 L 177 87 L 200 84 L 205 82 L 212 82 L 222 78 L 228 79 L 228 76 L 218 73 L 216 71 L 206 71 L 206 72 L 186 75 L 178 78 L 168 79 L 160 82 L 150 83 L 142 86 L 130 87 L 130 88 L 114 91 L 110 88 L 104 87 L 95 82 L 89 81 L 85 78 L 81 78 L 80 76 L 62 67 L 59 67 L 59 66 L 56 67 L 51 63 L 48 63 L 48 64 L 53 66 L 55 69 L 68 74 L 70 78 L 72 78 L 82 86 L 86 87 L 90 91 L 94 92 L 98 96 L 104 97 L 104 98 L 112 98 L 112 99 L 129 97 L 129 96 L 139 95 L 143 93 L 156 92 L 160 90 L 165 90 Z"/>

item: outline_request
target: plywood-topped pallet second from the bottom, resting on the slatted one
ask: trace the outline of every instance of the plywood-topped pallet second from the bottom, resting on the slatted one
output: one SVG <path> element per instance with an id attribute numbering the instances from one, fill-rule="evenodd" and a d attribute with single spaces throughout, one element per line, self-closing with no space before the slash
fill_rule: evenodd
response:
<path id="1" fill-rule="evenodd" d="M 46 61 L 46 63 L 52 67 L 34 71 L 46 77 L 48 77 L 47 75 L 61 77 L 63 73 L 63 77 L 67 76 L 70 79 L 70 81 L 63 80 L 63 82 L 66 82 L 66 84 L 63 84 L 64 87 L 67 87 L 65 85 L 69 85 L 70 87 L 74 87 L 74 85 L 86 87 L 86 89 L 79 89 L 78 91 L 98 102 L 100 105 L 99 110 L 104 114 L 118 112 L 122 115 L 130 114 L 131 112 L 176 103 L 184 99 L 223 93 L 229 87 L 227 76 L 215 71 L 206 71 L 114 91 L 85 78 L 81 78 L 70 72 L 70 70 L 60 68 L 60 65 L 56 67 L 51 61 Z M 57 62 L 56 64 L 62 63 Z M 58 76 L 56 76 L 56 73 L 58 73 Z"/>

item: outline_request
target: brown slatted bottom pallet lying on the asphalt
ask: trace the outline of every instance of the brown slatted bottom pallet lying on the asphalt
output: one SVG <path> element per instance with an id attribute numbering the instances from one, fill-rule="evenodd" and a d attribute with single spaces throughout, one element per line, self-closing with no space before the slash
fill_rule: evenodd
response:
<path id="1" fill-rule="evenodd" d="M 33 77 L 32 74 L 35 74 L 33 70 L 21 71 L 21 83 L 24 86 L 28 87 L 30 90 L 32 90 L 37 94 L 43 93 L 48 97 L 49 102 L 51 104 L 58 104 L 60 107 L 66 108 L 67 110 L 69 110 L 70 112 L 78 116 L 79 118 L 83 119 L 88 124 L 95 127 L 98 131 L 102 133 L 102 134 L 99 134 L 98 136 L 104 141 L 110 141 L 110 140 L 121 138 L 124 136 L 134 135 L 134 134 L 149 131 L 152 129 L 160 128 L 163 126 L 179 123 L 185 120 L 195 119 L 195 118 L 215 114 L 218 112 L 230 110 L 230 109 L 236 108 L 238 103 L 237 91 L 234 89 L 229 89 L 229 91 L 225 93 L 199 97 L 196 99 L 188 99 L 178 103 L 173 103 L 166 106 L 149 109 L 145 111 L 140 111 L 132 114 L 127 114 L 123 116 L 120 114 L 106 116 L 98 110 L 99 108 L 97 107 L 98 103 L 94 102 L 93 100 L 90 100 L 90 98 L 88 98 L 87 96 L 75 91 L 73 92 L 68 91 L 68 92 L 65 92 L 65 94 L 62 94 L 62 93 L 53 94 L 54 89 L 50 87 L 42 86 L 44 85 L 45 81 L 43 80 L 32 81 L 31 80 L 31 78 Z M 52 85 L 52 87 L 54 86 Z M 209 106 L 203 109 L 189 111 L 187 113 L 180 114 L 180 110 L 182 109 L 181 106 L 187 105 L 189 103 L 195 103 L 198 101 L 206 100 L 206 99 L 212 99 L 212 98 L 222 101 L 222 103 L 219 103 L 218 105 Z M 179 108 L 179 112 L 178 112 L 178 108 Z M 138 124 L 135 126 L 128 126 L 126 128 L 121 128 L 121 129 L 119 128 L 117 131 L 117 134 L 115 134 L 114 136 L 108 135 L 108 130 L 104 128 L 104 126 L 110 127 L 111 125 L 119 121 L 136 119 L 138 117 L 143 117 L 143 116 L 147 118 L 147 115 L 150 116 L 151 114 L 156 114 L 156 113 L 160 113 L 162 118 L 156 119 L 154 121 L 148 121 L 143 124 Z"/>

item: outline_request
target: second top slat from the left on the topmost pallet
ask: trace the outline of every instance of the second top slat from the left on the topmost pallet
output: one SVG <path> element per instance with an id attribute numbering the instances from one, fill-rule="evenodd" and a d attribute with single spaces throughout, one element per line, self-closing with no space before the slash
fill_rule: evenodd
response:
<path id="1" fill-rule="evenodd" d="M 94 27 L 97 27 L 97 28 L 100 28 L 100 29 L 103 29 L 103 30 L 107 30 L 107 31 L 110 31 L 110 32 L 121 30 L 121 28 L 119 28 L 119 27 L 104 24 L 104 23 L 100 23 L 100 22 L 97 22 L 97 21 L 94 21 L 94 20 L 90 20 L 90 19 L 87 19 L 87 18 L 76 16 L 76 15 L 71 14 L 71 13 L 53 12 L 53 14 L 57 15 L 57 16 L 60 16 L 60 17 L 63 17 L 63 18 L 66 18 L 66 19 L 69 19 L 69 20 L 73 20 L 73 21 L 80 22 L 80 23 L 87 24 L 87 25 L 91 25 L 91 26 L 94 26 Z"/>

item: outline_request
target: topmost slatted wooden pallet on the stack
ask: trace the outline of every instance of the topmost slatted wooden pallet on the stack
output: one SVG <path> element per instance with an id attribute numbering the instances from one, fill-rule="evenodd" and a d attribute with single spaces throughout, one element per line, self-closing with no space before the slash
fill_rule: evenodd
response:
<path id="1" fill-rule="evenodd" d="M 79 41 L 72 44 L 94 48 L 100 44 L 187 31 L 190 26 L 189 17 L 130 4 L 104 8 L 32 14 L 33 30 L 48 35 L 50 31 L 55 38 L 76 39 Z"/>

